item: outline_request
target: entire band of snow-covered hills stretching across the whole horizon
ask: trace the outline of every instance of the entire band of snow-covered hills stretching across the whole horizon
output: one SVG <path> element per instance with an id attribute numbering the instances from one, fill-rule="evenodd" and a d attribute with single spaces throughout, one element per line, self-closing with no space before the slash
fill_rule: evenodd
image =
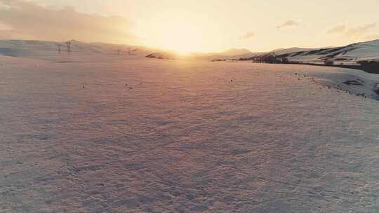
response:
<path id="1" fill-rule="evenodd" d="M 157 50 L 140 46 L 117 45 L 109 43 L 71 42 L 68 57 L 66 42 L 0 40 L 0 55 L 29 57 L 40 60 L 91 60 L 93 55 L 101 55 L 109 60 L 124 58 L 152 57 L 156 59 L 185 60 L 253 60 L 257 56 L 274 55 L 287 58 L 290 62 L 322 64 L 325 60 L 334 64 L 355 65 L 361 60 L 379 60 L 379 40 L 353 43 L 337 48 L 287 48 L 269 53 L 252 53 L 247 49 L 230 49 L 222 53 L 192 53 L 178 55 L 173 51 Z M 60 46 L 61 53 L 58 52 Z"/>

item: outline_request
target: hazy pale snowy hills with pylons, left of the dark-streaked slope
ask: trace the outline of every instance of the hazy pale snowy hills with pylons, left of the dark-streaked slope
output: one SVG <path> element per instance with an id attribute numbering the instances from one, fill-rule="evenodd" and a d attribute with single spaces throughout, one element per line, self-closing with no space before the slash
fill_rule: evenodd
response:
<path id="1" fill-rule="evenodd" d="M 101 55 L 103 59 L 112 59 L 115 55 L 123 58 L 151 57 L 155 59 L 185 59 L 185 60 L 214 60 L 218 58 L 238 59 L 240 57 L 252 57 L 259 53 L 251 53 L 247 49 L 230 49 L 221 53 L 191 53 L 180 55 L 172 50 L 159 50 L 141 46 L 128 46 L 110 43 L 84 43 L 70 41 L 72 55 L 68 55 L 67 42 L 54 41 L 23 41 L 0 40 L 0 55 L 12 57 L 27 57 L 39 60 L 91 60 L 93 55 Z M 61 53 L 59 53 L 59 47 Z"/>

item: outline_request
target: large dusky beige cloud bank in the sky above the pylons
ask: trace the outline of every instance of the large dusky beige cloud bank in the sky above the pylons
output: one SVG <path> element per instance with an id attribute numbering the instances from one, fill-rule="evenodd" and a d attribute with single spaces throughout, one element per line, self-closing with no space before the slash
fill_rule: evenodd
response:
<path id="1" fill-rule="evenodd" d="M 131 22 L 121 16 L 90 15 L 73 8 L 53 10 L 31 1 L 0 0 L 0 22 L 11 29 L 0 29 L 5 39 L 50 41 L 135 42 L 128 32 Z"/>

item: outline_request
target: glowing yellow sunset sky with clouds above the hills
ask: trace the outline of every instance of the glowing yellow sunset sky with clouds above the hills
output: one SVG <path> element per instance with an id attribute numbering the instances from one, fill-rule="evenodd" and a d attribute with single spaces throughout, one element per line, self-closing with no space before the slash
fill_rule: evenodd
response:
<path id="1" fill-rule="evenodd" d="M 0 39 L 77 39 L 179 52 L 342 46 L 379 39 L 378 8 L 378 0 L 0 0 Z"/>

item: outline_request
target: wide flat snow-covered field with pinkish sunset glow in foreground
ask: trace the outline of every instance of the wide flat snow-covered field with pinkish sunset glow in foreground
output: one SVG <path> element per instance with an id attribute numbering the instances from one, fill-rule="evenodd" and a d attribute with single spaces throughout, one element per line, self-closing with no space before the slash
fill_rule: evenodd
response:
<path id="1" fill-rule="evenodd" d="M 379 212 L 379 76 L 65 61 L 0 56 L 1 213 Z"/>

